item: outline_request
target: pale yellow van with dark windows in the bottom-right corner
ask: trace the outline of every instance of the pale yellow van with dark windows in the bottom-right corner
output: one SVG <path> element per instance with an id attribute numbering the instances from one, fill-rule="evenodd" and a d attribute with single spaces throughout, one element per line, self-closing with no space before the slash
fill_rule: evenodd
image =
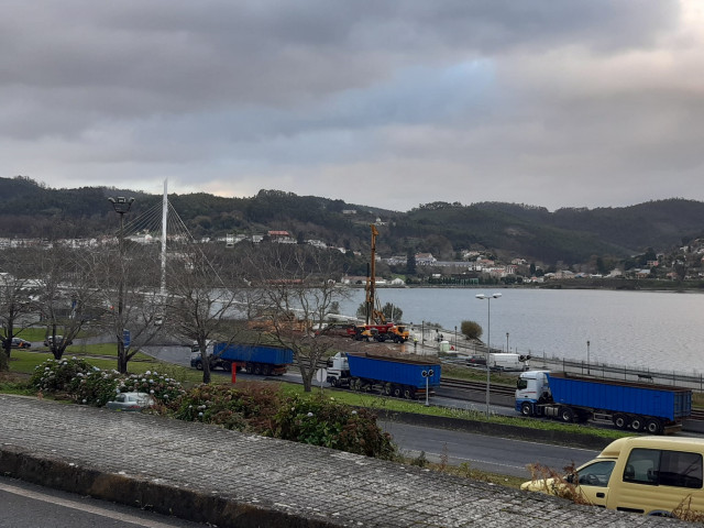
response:
<path id="1" fill-rule="evenodd" d="M 670 516 L 678 508 L 704 512 L 704 439 L 632 437 L 609 443 L 565 480 L 596 506 Z M 521 490 L 558 494 L 552 480 L 530 481 Z"/>

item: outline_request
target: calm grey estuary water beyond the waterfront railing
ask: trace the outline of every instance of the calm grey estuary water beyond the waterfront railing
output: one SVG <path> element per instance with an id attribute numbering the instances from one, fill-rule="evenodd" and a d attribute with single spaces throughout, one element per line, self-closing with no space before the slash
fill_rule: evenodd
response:
<path id="1" fill-rule="evenodd" d="M 588 360 L 659 371 L 704 373 L 704 294 L 521 288 L 378 288 L 382 305 L 403 310 L 404 322 L 437 322 L 458 332 L 463 320 L 482 326 L 491 344 L 520 354 Z M 477 299 L 477 294 L 502 297 Z M 354 315 L 364 290 L 341 312 Z M 490 308 L 491 304 L 491 308 Z M 491 310 L 491 314 L 490 314 Z M 506 334 L 508 333 L 508 339 Z M 453 339 L 453 336 L 444 336 Z M 451 338 L 451 339 L 450 339 Z"/>

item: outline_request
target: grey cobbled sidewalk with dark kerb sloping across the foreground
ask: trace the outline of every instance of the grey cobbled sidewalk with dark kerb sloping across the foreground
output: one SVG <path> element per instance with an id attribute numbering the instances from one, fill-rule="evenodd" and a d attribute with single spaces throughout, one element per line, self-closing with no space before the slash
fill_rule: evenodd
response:
<path id="1" fill-rule="evenodd" d="M 7 395 L 0 395 L 0 471 L 221 528 L 650 527 L 669 520 L 200 424 Z"/>

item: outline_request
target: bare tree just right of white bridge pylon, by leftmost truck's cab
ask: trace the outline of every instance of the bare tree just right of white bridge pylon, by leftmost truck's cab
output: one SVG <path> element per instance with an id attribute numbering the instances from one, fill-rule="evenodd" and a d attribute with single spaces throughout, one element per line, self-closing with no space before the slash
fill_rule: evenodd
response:
<path id="1" fill-rule="evenodd" d="M 217 253 L 217 249 L 206 254 L 196 244 L 189 244 L 168 258 L 169 300 L 164 321 L 169 332 L 200 351 L 202 383 L 210 383 L 211 377 L 209 343 L 233 342 L 242 331 L 241 284 L 235 268 Z"/>

